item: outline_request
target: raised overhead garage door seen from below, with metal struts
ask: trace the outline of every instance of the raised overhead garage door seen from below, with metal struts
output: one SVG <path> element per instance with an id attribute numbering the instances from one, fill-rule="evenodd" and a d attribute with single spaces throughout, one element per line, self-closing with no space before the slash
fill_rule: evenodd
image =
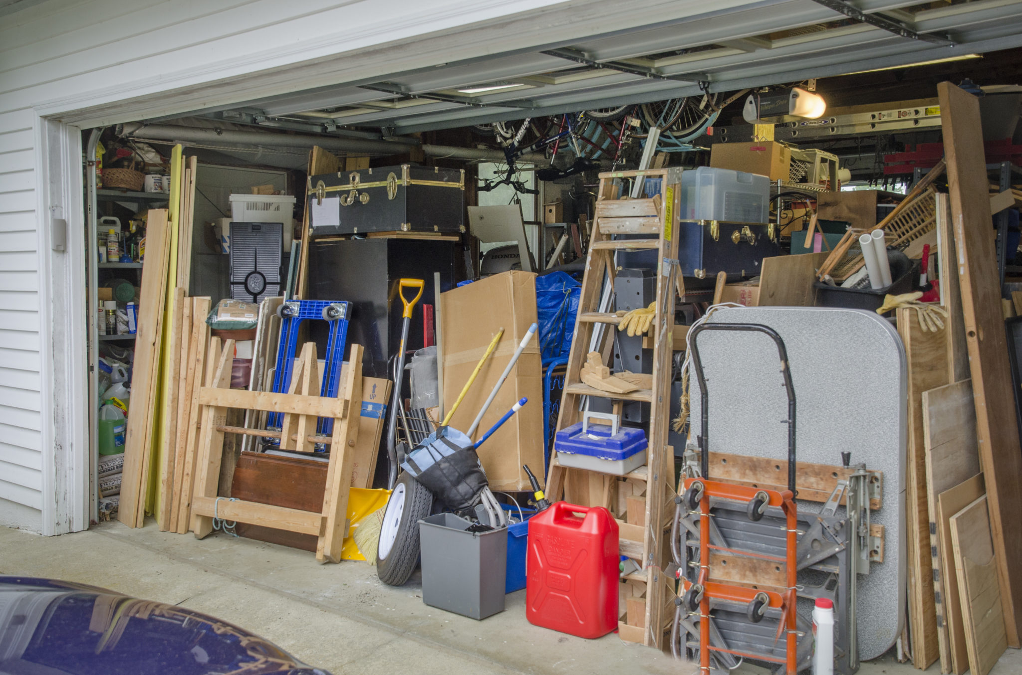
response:
<path id="1" fill-rule="evenodd" d="M 569 3 L 568 3 L 569 4 Z M 568 4 L 565 5 L 567 11 Z M 729 92 L 1022 46 L 1022 0 L 760 0 L 337 82 L 233 109 L 248 124 L 384 135 Z M 583 11 L 584 6 L 571 11 Z M 949 37 L 953 33 L 954 40 Z"/>

